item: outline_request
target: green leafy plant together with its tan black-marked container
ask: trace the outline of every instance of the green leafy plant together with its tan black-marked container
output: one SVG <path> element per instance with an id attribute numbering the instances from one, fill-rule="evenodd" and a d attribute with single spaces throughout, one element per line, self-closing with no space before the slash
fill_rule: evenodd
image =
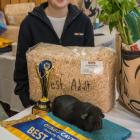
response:
<path id="1" fill-rule="evenodd" d="M 98 0 L 100 21 L 122 39 L 119 101 L 140 116 L 140 13 L 136 0 Z"/>

